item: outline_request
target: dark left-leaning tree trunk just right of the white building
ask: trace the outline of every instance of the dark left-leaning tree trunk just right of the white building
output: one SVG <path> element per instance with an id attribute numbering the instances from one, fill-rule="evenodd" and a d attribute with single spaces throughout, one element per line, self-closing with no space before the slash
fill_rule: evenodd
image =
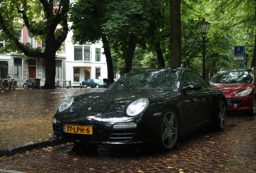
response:
<path id="1" fill-rule="evenodd" d="M 109 78 L 110 83 L 114 83 L 112 56 L 111 56 L 107 38 L 105 36 L 102 37 L 102 42 L 103 42 L 104 53 L 107 61 L 107 78 Z"/>

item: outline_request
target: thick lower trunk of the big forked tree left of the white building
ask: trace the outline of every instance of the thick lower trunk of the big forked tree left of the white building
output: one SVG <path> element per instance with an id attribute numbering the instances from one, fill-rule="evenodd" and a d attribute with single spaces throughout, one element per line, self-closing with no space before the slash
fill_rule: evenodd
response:
<path id="1" fill-rule="evenodd" d="M 45 83 L 43 89 L 54 89 L 55 74 L 56 74 L 56 63 L 55 54 L 49 55 L 45 60 Z"/>

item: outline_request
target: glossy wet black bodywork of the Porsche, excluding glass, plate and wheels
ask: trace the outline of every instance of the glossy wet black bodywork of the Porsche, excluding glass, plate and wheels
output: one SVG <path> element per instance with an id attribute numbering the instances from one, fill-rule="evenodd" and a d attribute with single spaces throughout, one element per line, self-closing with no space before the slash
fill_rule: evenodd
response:
<path id="1" fill-rule="evenodd" d="M 159 71 L 159 69 L 147 70 Z M 89 145 L 158 145 L 159 138 L 161 141 L 161 137 L 159 137 L 161 132 L 159 133 L 159 131 L 172 128 L 171 125 L 167 125 L 165 130 L 161 129 L 165 126 L 164 123 L 168 124 L 165 122 L 167 119 L 171 121 L 171 117 L 167 118 L 164 115 L 169 115 L 169 113 L 173 115 L 172 112 L 176 114 L 172 117 L 177 119 L 177 126 L 173 127 L 175 129 L 173 131 L 175 133 L 177 130 L 179 136 L 202 127 L 219 128 L 218 107 L 220 102 L 224 105 L 225 115 L 222 118 L 226 122 L 226 100 L 222 91 L 214 89 L 204 79 L 202 80 L 206 82 L 207 87 L 202 89 L 202 86 L 192 84 L 185 89 L 181 83 L 184 80 L 183 74 L 192 72 L 191 70 L 183 68 L 162 70 L 175 70 L 180 73 L 180 81 L 177 82 L 178 87 L 175 91 L 161 90 L 143 82 L 141 82 L 143 86 L 154 89 L 132 89 L 125 86 L 123 81 L 126 81 L 127 76 L 129 78 L 132 73 L 139 74 L 145 71 L 145 69 L 135 70 L 120 78 L 118 80 L 120 84 L 117 81 L 106 91 L 76 96 L 70 107 L 62 112 L 57 111 L 53 119 L 54 137 Z M 116 86 L 122 87 L 122 89 L 117 89 Z M 140 99 L 147 103 L 143 111 L 138 115 L 128 115 L 129 105 Z M 81 126 L 92 127 L 92 135 L 66 133 L 64 132 L 66 125 L 74 125 L 79 128 Z M 223 126 L 222 124 L 221 129 L 225 128 Z M 174 141 L 178 135 L 174 135 Z M 175 143 L 162 148 L 171 149 Z"/>

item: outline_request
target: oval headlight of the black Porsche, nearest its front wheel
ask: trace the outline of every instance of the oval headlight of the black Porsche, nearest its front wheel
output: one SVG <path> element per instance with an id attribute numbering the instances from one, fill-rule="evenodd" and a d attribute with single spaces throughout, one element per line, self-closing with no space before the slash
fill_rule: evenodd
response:
<path id="1" fill-rule="evenodd" d="M 126 109 L 126 114 L 129 116 L 136 116 L 145 111 L 149 106 L 149 100 L 145 98 L 138 99 L 132 102 Z"/>

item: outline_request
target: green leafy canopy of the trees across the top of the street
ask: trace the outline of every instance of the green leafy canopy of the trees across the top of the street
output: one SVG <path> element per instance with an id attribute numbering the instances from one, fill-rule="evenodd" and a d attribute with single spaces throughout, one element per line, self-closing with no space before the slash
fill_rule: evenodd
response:
<path id="1" fill-rule="evenodd" d="M 33 3 L 31 3 L 33 2 Z M 62 1 L 54 1 L 55 5 Z M 34 5 L 25 5 L 34 4 Z M 70 21 L 73 22 L 73 42 L 85 44 L 95 42 L 103 35 L 109 41 L 113 59 L 114 72 L 123 74 L 130 34 L 136 36 L 134 68 L 157 67 L 155 43 L 160 42 L 165 64 L 169 64 L 170 44 L 170 5 L 163 0 L 76 0 L 70 10 Z M 14 40 L 19 39 L 16 27 L 25 23 L 16 7 L 27 12 L 29 30 L 33 36 L 44 41 L 54 23 L 54 15 L 41 10 L 44 8 L 38 0 L 6 0 L 0 6 L 10 35 L 0 33 L 5 40 L 4 52 L 22 51 Z M 58 13 L 58 8 L 53 11 Z M 11 15 L 9 15 L 11 14 Z M 210 75 L 225 67 L 238 67 L 233 60 L 234 46 L 246 46 L 245 64 L 250 67 L 253 59 L 255 41 L 255 0 L 181 0 L 182 22 L 182 66 L 202 72 L 202 38 L 196 22 L 205 17 L 211 22 L 206 37 L 206 69 Z M 43 20 L 39 19 L 42 18 Z M 12 21 L 17 21 L 12 23 Z M 39 22 L 38 22 L 39 21 Z M 60 24 L 63 24 L 60 22 Z M 0 26 L 1 27 L 1 26 Z M 43 28 L 43 30 L 41 29 Z M 2 30 L 2 28 L 0 28 Z M 41 32 L 42 31 L 42 32 Z M 55 32 L 55 39 L 62 36 L 62 29 Z M 24 45 L 31 52 L 43 51 Z M 133 68 L 133 67 L 132 67 Z"/>

